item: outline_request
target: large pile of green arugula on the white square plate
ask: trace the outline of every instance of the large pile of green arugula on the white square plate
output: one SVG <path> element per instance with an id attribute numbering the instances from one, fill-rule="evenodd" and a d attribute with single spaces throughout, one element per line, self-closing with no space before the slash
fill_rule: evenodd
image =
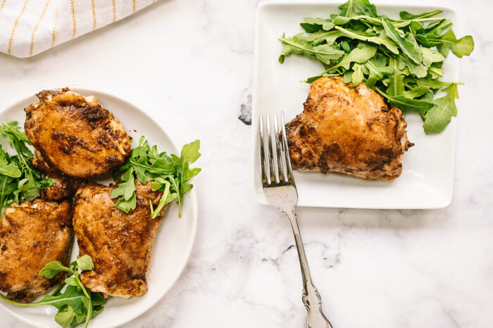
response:
<path id="1" fill-rule="evenodd" d="M 362 82 L 404 113 L 423 118 L 426 134 L 441 132 L 457 115 L 455 99 L 460 82 L 439 80 L 451 51 L 458 58 L 474 49 L 470 35 L 456 38 L 452 22 L 442 11 L 408 13 L 399 19 L 378 15 L 368 0 L 349 0 L 330 18 L 305 17 L 301 32 L 279 38 L 279 62 L 293 53 L 322 63 L 325 70 L 304 82 L 323 76 L 343 76 L 357 87 Z M 437 97 L 441 91 L 444 95 Z"/>

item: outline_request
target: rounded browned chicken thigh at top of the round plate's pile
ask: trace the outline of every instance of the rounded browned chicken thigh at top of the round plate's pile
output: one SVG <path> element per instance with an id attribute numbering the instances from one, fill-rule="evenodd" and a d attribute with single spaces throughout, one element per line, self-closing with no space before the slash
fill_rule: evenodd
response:
<path id="1" fill-rule="evenodd" d="M 25 108 L 27 137 L 51 168 L 71 177 L 104 175 L 130 156 L 121 123 L 94 96 L 42 91 Z"/>

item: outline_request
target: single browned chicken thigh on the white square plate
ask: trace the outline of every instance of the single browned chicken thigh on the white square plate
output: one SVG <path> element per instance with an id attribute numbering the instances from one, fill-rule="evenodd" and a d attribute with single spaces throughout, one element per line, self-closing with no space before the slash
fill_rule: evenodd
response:
<path id="1" fill-rule="evenodd" d="M 399 108 L 389 110 L 364 83 L 349 87 L 342 77 L 320 77 L 311 84 L 303 113 L 287 123 L 294 170 L 395 179 L 413 146 Z"/>

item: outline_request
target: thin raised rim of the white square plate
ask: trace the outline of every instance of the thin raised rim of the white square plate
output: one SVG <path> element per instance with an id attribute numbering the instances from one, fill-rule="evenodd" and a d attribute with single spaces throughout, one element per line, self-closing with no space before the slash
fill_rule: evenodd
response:
<path id="1" fill-rule="evenodd" d="M 259 39 L 260 39 L 260 16 L 261 16 L 261 11 L 265 10 L 265 8 L 269 7 L 276 7 L 276 6 L 320 6 L 320 5 L 340 5 L 344 1 L 343 0 L 309 0 L 309 1 L 301 1 L 301 0 L 267 0 L 264 1 L 263 3 L 259 4 L 256 8 L 256 15 L 255 15 L 255 29 L 254 29 L 254 81 L 252 84 L 252 120 L 256 120 L 257 118 L 254 118 L 254 113 L 257 114 L 260 109 L 259 104 L 257 103 L 256 99 L 258 96 L 258 75 L 259 75 Z M 461 23 L 460 23 L 460 15 L 456 8 L 454 6 L 451 6 L 451 4 L 439 4 L 439 5 L 434 5 L 434 4 L 425 4 L 425 3 L 411 3 L 407 4 L 404 0 L 375 0 L 373 1 L 373 4 L 377 6 L 387 6 L 387 7 L 398 7 L 398 6 L 403 6 L 403 10 L 406 10 L 407 8 L 428 8 L 428 9 L 444 9 L 447 11 L 450 11 L 453 13 L 453 15 L 456 18 L 456 21 L 454 21 L 454 30 L 455 32 L 461 31 Z M 426 9 L 425 9 L 426 10 Z M 457 78 L 460 80 L 460 66 L 461 63 L 458 61 L 457 63 L 458 66 L 458 72 L 457 72 Z M 430 206 L 424 206 L 423 204 L 418 204 L 416 206 L 413 205 L 408 205 L 408 206 L 392 206 L 392 204 L 389 204 L 387 206 L 337 206 L 335 205 L 324 205 L 324 204 L 315 204 L 315 203 L 308 203 L 308 204 L 301 204 L 298 205 L 298 207 L 304 207 L 304 208 L 354 208 L 354 209 L 368 209 L 368 210 L 434 210 L 434 209 L 441 209 L 441 208 L 447 208 L 448 206 L 451 205 L 453 199 L 454 199 L 454 180 L 455 180 L 455 170 L 456 170 L 456 144 L 457 144 L 457 117 L 453 118 L 451 122 L 449 123 L 448 128 L 453 129 L 453 149 L 452 151 L 452 158 L 453 158 L 453 164 L 451 165 L 451 177 L 450 179 L 452 180 L 451 187 L 449 190 L 449 195 L 443 196 L 441 201 L 436 201 Z M 263 191 L 261 189 L 258 189 L 258 186 L 256 185 L 256 179 L 258 179 L 258 172 L 257 172 L 257 166 L 259 163 L 256 163 L 256 156 L 258 155 L 258 139 L 257 139 L 257 134 L 258 131 L 256 131 L 256 123 L 255 121 L 252 122 L 252 127 L 253 133 L 251 134 L 251 176 L 253 177 L 251 181 L 251 190 L 253 191 L 254 198 L 258 203 L 261 203 L 263 205 L 270 205 L 266 199 L 266 197 L 263 194 Z"/>

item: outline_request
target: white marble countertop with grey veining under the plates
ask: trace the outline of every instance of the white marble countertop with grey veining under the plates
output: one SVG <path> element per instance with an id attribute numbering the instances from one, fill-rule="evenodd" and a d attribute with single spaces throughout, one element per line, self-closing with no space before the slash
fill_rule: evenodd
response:
<path id="1" fill-rule="evenodd" d="M 125 327 L 304 327 L 289 224 L 251 191 L 259 2 L 162 0 L 34 58 L 0 54 L 0 108 L 40 89 L 79 84 L 161 103 L 152 115 L 177 144 L 201 139 L 192 256 L 168 294 Z M 313 279 L 336 328 L 493 326 L 493 122 L 486 101 L 493 2 L 414 2 L 454 6 L 458 34 L 475 39 L 473 55 L 461 61 L 454 201 L 442 210 L 299 209 Z M 2 327 L 26 327 L 3 310 L 0 317 Z"/>

